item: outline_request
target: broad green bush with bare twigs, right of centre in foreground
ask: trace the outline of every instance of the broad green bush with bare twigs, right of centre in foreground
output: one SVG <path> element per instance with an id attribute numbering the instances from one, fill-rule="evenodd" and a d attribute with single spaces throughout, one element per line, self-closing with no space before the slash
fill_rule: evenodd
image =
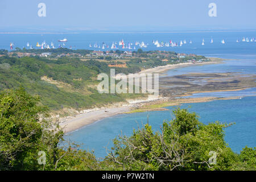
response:
<path id="1" fill-rule="evenodd" d="M 114 139 L 108 159 L 126 170 L 230 170 L 238 155 L 226 146 L 220 122 L 204 125 L 195 113 L 177 108 L 174 119 L 161 132 L 146 124 L 131 137 Z M 216 152 L 216 164 L 209 162 Z"/>

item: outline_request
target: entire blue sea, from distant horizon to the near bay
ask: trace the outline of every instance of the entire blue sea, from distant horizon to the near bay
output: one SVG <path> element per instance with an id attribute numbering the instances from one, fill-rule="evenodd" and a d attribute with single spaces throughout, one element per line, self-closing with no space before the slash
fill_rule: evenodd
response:
<path id="1" fill-rule="evenodd" d="M 248 38 L 249 42 L 242 42 L 242 38 Z M 67 47 L 72 49 L 93 49 L 106 51 L 109 48 L 94 48 L 93 45 L 105 43 L 111 47 L 112 43 L 123 40 L 125 44 L 144 42 L 147 48 L 143 51 L 160 50 L 175 51 L 179 53 L 193 53 L 207 57 L 219 57 L 226 59 L 221 64 L 193 65 L 191 67 L 171 69 L 161 76 L 175 76 L 186 73 L 225 73 L 232 72 L 245 76 L 256 74 L 256 42 L 250 42 L 256 38 L 256 31 L 200 31 L 200 32 L 98 32 L 78 34 L 0 34 L 0 49 L 9 49 L 10 43 L 14 48 L 28 48 L 29 43 L 36 47 L 36 43 L 51 42 L 55 47 Z M 68 42 L 57 42 L 58 39 L 67 38 Z M 202 46 L 202 40 L 205 45 Z M 213 43 L 210 40 L 213 39 Z M 221 40 L 225 40 L 225 44 Z M 238 39 L 238 43 L 237 43 Z M 177 42 L 186 40 L 187 44 L 181 47 L 156 47 L 153 40 L 158 42 Z M 192 44 L 189 42 L 192 41 Z M 92 47 L 89 47 L 89 44 Z M 135 46 L 135 50 L 138 49 Z M 119 50 L 134 51 L 134 49 Z M 256 80 L 256 79 L 255 79 Z M 225 141 L 234 152 L 240 153 L 243 147 L 256 147 L 256 88 L 229 92 L 196 93 L 189 97 L 230 97 L 240 98 L 233 100 L 215 100 L 210 102 L 182 104 L 181 108 L 195 111 L 200 115 L 200 121 L 220 121 L 234 123 L 225 129 Z M 173 118 L 172 110 L 176 106 L 166 107 L 166 111 L 147 111 L 144 113 L 119 114 L 114 117 L 101 119 L 91 125 L 68 133 L 65 139 L 80 144 L 80 148 L 93 151 L 97 158 L 104 158 L 113 146 L 112 140 L 118 135 L 130 136 L 133 130 L 143 127 L 148 122 L 154 131 L 159 131 L 163 121 Z"/>

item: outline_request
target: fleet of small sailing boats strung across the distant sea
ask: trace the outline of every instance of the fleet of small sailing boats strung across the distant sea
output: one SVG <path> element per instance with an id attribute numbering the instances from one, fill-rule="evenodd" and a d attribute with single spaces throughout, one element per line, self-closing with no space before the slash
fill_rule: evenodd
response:
<path id="1" fill-rule="evenodd" d="M 60 39 L 58 40 L 58 42 L 60 42 L 59 44 L 59 48 L 60 47 L 64 47 L 65 46 L 65 43 L 68 42 L 68 39 Z M 240 42 L 256 42 L 256 39 L 255 38 L 245 38 L 243 37 L 242 39 L 237 39 L 236 40 L 237 43 L 240 43 Z M 192 44 L 192 40 L 189 40 L 188 42 L 189 44 Z M 202 42 L 201 42 L 201 46 L 205 46 L 205 40 L 204 38 L 202 39 Z M 213 44 L 213 38 L 210 38 L 210 41 L 209 41 L 210 44 Z M 221 44 L 225 44 L 225 39 L 221 39 Z M 169 40 L 167 42 L 160 42 L 159 40 L 152 40 L 152 46 L 155 46 L 155 47 L 182 47 L 184 46 L 185 44 L 187 44 L 187 40 L 180 40 L 179 42 L 176 42 L 176 41 L 173 41 L 173 40 Z M 132 42 L 125 42 L 123 39 L 120 40 L 119 42 L 112 42 L 111 46 L 105 44 L 105 42 L 102 42 L 102 44 L 100 43 L 89 43 L 89 47 L 90 48 L 98 48 L 98 49 L 137 49 L 137 48 L 147 48 L 149 46 L 148 43 L 145 43 L 145 42 L 139 42 L 139 41 L 136 41 L 135 43 L 132 43 Z M 14 47 L 14 43 L 11 42 L 10 43 L 10 49 L 12 50 Z M 34 47 L 32 46 L 32 44 L 30 42 L 27 42 L 26 44 L 26 47 L 27 48 L 30 48 L 30 49 L 33 49 Z M 39 43 L 37 42 L 36 43 L 36 47 L 38 48 L 41 48 L 41 49 L 51 49 L 51 48 L 55 48 L 55 45 L 53 42 L 51 42 L 50 44 L 47 44 L 46 41 L 43 41 L 42 43 Z M 70 46 L 69 48 L 72 49 L 72 46 Z"/>

